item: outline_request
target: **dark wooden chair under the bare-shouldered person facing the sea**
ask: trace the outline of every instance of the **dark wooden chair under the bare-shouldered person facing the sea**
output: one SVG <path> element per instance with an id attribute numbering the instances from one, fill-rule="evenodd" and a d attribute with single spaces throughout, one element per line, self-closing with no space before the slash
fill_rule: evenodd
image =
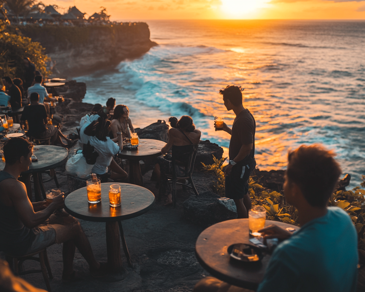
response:
<path id="1" fill-rule="evenodd" d="M 195 196 L 199 196 L 198 191 L 195 188 L 192 174 L 194 170 L 194 163 L 196 153 L 198 151 L 198 145 L 185 145 L 185 146 L 172 146 L 172 174 L 171 173 L 162 173 L 161 175 L 164 177 L 165 185 L 167 185 L 170 189 L 170 184 L 172 184 L 172 201 L 173 206 L 176 207 L 176 186 L 182 185 L 183 189 L 186 187 L 191 188 Z M 186 176 L 178 177 L 176 174 L 176 165 L 184 166 Z M 188 183 L 178 183 L 179 180 L 188 180 Z M 161 181 L 163 183 L 163 181 Z M 190 184 L 190 185 L 189 185 Z M 163 186 L 160 185 L 160 188 Z"/>

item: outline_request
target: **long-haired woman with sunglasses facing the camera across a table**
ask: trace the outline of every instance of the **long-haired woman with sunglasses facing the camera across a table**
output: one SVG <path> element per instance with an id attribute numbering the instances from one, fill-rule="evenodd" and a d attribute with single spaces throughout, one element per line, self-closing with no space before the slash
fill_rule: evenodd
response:
<path id="1" fill-rule="evenodd" d="M 118 132 L 122 132 L 123 138 L 131 138 L 131 132 L 134 133 L 135 131 L 132 125 L 132 120 L 129 118 L 129 109 L 127 105 L 118 104 L 114 108 L 114 115 L 110 128 L 113 138 L 118 137 L 116 134 Z"/>

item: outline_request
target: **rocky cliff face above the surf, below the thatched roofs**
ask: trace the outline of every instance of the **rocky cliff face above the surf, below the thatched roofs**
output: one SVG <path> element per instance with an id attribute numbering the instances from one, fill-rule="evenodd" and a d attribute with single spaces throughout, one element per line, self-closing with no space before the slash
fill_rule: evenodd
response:
<path id="1" fill-rule="evenodd" d="M 56 61 L 57 76 L 72 77 L 139 57 L 157 43 L 150 41 L 146 23 L 113 26 L 18 26 L 16 33 L 40 42 Z M 54 70 L 54 73 L 57 72 Z"/>

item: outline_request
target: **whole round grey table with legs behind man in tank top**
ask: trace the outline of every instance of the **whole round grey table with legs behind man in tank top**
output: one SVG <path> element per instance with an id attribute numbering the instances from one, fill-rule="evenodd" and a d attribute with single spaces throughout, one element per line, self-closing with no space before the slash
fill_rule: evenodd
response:
<path id="1" fill-rule="evenodd" d="M 29 165 L 29 170 L 22 172 L 22 181 L 27 187 L 27 193 L 30 200 L 32 200 L 32 188 L 30 184 L 30 175 L 33 176 L 34 181 L 34 197 L 36 201 L 42 201 L 42 196 L 46 199 L 46 192 L 42 181 L 42 172 L 50 170 L 57 188 L 59 188 L 54 168 L 66 163 L 68 158 L 68 151 L 64 147 L 53 145 L 37 145 L 33 148 L 33 154 L 37 156 L 38 161 L 32 162 Z M 5 163 L 0 161 L 0 170 L 3 170 Z M 42 196 L 41 196 L 42 194 Z"/>

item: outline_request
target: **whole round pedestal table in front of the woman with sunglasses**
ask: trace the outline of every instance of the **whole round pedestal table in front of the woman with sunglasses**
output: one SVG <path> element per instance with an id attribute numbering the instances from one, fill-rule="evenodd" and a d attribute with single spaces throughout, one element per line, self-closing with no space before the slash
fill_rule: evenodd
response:
<path id="1" fill-rule="evenodd" d="M 138 148 L 136 150 L 123 149 L 122 153 L 118 154 L 119 158 L 129 160 L 129 181 L 131 184 L 143 185 L 139 161 L 160 156 L 161 149 L 165 145 L 166 143 L 160 140 L 139 139 Z"/>

